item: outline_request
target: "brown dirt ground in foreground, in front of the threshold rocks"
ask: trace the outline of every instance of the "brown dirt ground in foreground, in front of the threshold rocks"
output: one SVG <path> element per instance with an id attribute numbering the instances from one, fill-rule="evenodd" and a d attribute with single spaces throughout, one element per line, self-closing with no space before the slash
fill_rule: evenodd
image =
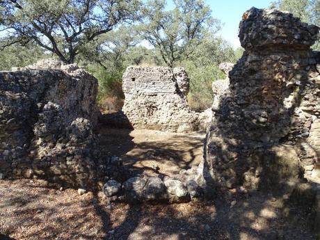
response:
<path id="1" fill-rule="evenodd" d="M 261 193 L 205 203 L 106 205 L 102 193 L 0 180 L 0 239 L 316 239 L 307 227 L 310 216 L 291 209 L 294 218 L 287 221 L 283 209 L 282 199 Z"/>

